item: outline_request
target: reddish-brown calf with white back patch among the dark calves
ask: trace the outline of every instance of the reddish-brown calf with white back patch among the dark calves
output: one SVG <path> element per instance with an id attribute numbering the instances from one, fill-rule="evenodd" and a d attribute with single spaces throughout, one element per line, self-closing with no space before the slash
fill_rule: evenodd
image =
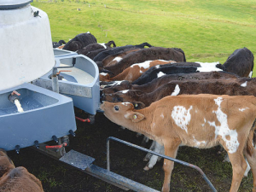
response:
<path id="1" fill-rule="evenodd" d="M 158 65 L 165 65 L 168 63 L 175 63 L 176 61 L 165 61 L 165 60 L 154 60 L 154 61 L 144 61 L 141 63 L 133 64 L 131 67 L 125 68 L 122 73 L 111 78 L 108 73 L 100 73 L 100 81 L 119 81 L 119 80 L 127 80 L 132 82 L 141 75 L 148 71 L 150 67 L 158 66 Z"/>

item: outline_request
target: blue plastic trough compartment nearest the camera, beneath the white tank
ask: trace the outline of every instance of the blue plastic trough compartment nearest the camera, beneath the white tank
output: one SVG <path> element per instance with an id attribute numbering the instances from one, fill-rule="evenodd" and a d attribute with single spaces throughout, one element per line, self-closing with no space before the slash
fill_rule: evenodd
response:
<path id="1" fill-rule="evenodd" d="M 26 148 L 67 136 L 76 130 L 72 99 L 33 84 L 15 87 L 20 96 L 11 98 L 14 88 L 0 91 L 0 148 Z M 20 102 L 16 106 L 14 101 Z M 19 108 L 22 111 L 19 112 Z"/>

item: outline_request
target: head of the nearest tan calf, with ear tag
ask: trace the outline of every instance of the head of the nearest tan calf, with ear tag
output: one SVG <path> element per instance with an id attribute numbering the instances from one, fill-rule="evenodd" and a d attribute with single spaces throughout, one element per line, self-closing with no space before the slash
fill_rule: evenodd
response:
<path id="1" fill-rule="evenodd" d="M 113 123 L 126 127 L 144 119 L 144 115 L 138 113 L 130 102 L 103 102 L 101 109 L 104 111 L 104 115 Z"/>

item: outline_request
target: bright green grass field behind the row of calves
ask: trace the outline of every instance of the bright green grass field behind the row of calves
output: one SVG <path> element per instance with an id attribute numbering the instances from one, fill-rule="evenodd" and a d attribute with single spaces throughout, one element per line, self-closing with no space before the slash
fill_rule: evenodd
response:
<path id="1" fill-rule="evenodd" d="M 224 63 L 243 47 L 256 53 L 253 0 L 34 0 L 32 5 L 49 15 L 53 41 L 89 31 L 98 43 L 178 47 L 188 61 Z"/>

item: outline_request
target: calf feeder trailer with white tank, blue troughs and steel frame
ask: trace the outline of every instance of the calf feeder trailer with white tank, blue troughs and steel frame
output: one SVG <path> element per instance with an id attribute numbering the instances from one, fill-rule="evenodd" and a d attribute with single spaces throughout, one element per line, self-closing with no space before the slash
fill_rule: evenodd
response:
<path id="1" fill-rule="evenodd" d="M 0 148 L 19 153 L 20 148 L 32 147 L 121 189 L 157 191 L 110 172 L 109 155 L 107 170 L 93 165 L 95 159 L 85 154 L 66 153 L 68 135 L 75 136 L 77 129 L 73 106 L 90 115 L 99 108 L 99 71 L 84 55 L 53 49 L 48 16 L 30 3 L 32 0 L 0 3 Z M 52 140 L 58 145 L 45 144 Z M 108 138 L 108 154 L 109 140 L 135 147 Z"/>

